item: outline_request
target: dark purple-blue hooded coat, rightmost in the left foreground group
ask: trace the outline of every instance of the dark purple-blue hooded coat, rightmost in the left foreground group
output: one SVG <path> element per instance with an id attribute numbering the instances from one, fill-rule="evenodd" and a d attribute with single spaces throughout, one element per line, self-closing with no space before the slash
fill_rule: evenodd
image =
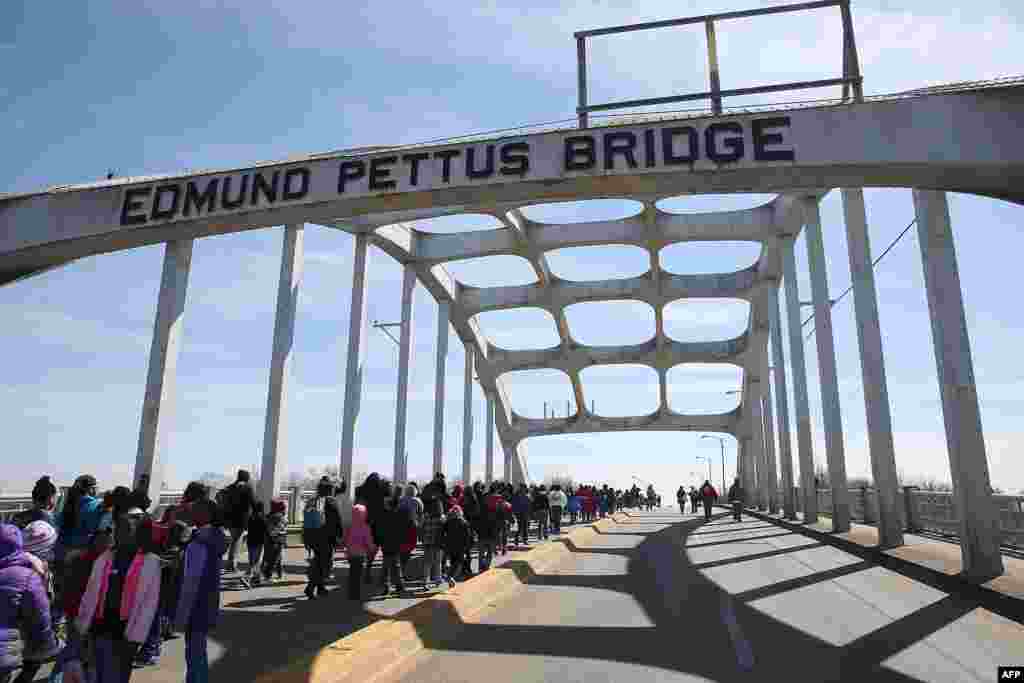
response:
<path id="1" fill-rule="evenodd" d="M 188 631 L 206 633 L 220 614 L 220 557 L 227 549 L 224 532 L 202 526 L 185 548 L 184 574 L 174 623 Z"/>

